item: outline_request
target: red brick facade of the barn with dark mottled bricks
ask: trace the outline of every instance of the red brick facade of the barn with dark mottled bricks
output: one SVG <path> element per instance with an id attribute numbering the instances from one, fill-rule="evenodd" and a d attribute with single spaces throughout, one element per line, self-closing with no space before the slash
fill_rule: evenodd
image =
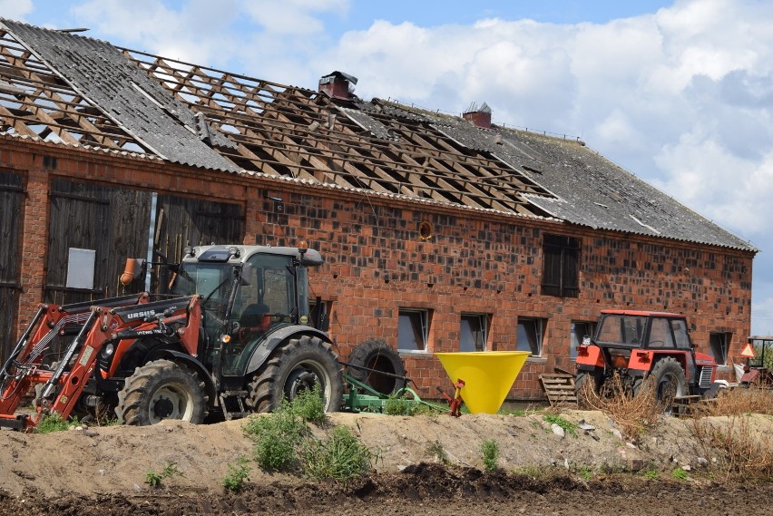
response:
<path id="1" fill-rule="evenodd" d="M 450 388 L 431 354 L 456 351 L 460 316 L 489 316 L 489 350 L 514 349 L 518 317 L 545 321 L 543 353 L 523 367 L 511 397 L 543 399 L 539 375 L 572 370 L 572 321 L 592 322 L 603 308 L 685 313 L 693 341 L 709 352 L 709 333 L 732 334 L 729 358 L 749 335 L 753 253 L 594 231 L 566 223 L 454 209 L 353 190 L 185 168 L 159 160 L 2 137 L 0 167 L 27 181 L 19 327 L 42 299 L 48 191 L 54 177 L 227 200 L 243 205 L 244 243 L 293 245 L 307 239 L 326 264 L 311 273 L 311 296 L 332 307 L 330 335 L 345 358 L 368 339 L 397 345 L 400 308 L 430 314 L 428 353 L 406 354 L 423 397 Z M 56 158 L 45 168 L 43 155 Z M 276 209 L 282 199 L 283 209 Z M 420 233 L 420 225 L 429 222 Z M 431 235 L 427 231 L 431 230 Z M 582 239 L 580 295 L 541 294 L 543 237 Z M 218 242 L 226 243 L 226 242 Z"/>

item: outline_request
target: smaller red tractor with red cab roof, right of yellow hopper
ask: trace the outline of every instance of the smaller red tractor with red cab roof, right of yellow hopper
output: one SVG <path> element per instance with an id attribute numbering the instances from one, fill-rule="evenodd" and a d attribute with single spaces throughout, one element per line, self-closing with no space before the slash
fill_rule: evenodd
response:
<path id="1" fill-rule="evenodd" d="M 688 396 L 713 397 L 717 363 L 695 350 L 685 316 L 665 312 L 603 310 L 595 335 L 578 347 L 575 389 L 597 394 L 620 378 L 627 392 L 639 394 L 652 385 L 666 413 Z M 586 386 L 588 385 L 588 386 Z"/>

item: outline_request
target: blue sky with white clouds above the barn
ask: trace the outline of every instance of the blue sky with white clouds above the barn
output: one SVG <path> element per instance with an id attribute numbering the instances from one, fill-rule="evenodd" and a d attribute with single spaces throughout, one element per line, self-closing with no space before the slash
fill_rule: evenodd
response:
<path id="1" fill-rule="evenodd" d="M 579 137 L 748 240 L 773 335 L 773 2 L 0 0 L 0 16 L 316 89 Z"/>

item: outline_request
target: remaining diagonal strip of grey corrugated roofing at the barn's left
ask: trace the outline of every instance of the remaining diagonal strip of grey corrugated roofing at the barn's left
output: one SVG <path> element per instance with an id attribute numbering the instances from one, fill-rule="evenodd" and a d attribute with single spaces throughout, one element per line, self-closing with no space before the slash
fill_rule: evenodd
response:
<path id="1" fill-rule="evenodd" d="M 233 142 L 178 102 L 112 44 L 0 19 L 15 39 L 37 54 L 73 89 L 169 161 L 214 170 L 239 167 L 211 149 Z"/>

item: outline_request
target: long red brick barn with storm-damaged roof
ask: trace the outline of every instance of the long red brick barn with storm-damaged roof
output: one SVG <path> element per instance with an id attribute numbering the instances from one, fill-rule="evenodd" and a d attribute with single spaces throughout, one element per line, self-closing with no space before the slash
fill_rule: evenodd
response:
<path id="1" fill-rule="evenodd" d="M 341 358 L 383 339 L 427 397 L 450 385 L 433 353 L 519 349 L 510 398 L 543 399 L 604 308 L 686 314 L 726 377 L 749 335 L 757 249 L 577 139 L 360 99 L 338 71 L 308 89 L 0 36 L 4 356 L 40 302 L 124 293 L 124 258 L 300 239 Z"/>

